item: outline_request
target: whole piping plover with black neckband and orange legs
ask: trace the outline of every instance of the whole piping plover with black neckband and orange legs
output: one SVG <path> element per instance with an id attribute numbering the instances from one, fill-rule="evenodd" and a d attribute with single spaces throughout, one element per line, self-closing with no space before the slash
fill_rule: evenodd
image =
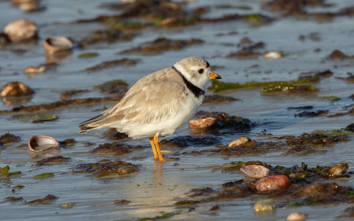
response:
<path id="1" fill-rule="evenodd" d="M 184 58 L 141 78 L 118 104 L 82 122 L 79 133 L 112 127 L 132 139 L 149 137 L 155 160 L 166 161 L 159 135 L 171 135 L 188 123 L 198 111 L 210 79 L 221 77 L 211 71 L 206 60 Z"/>

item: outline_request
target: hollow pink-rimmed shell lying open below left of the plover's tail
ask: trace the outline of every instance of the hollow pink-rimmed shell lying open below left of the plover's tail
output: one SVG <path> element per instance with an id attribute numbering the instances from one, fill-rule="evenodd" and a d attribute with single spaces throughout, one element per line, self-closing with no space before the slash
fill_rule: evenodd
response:
<path id="1" fill-rule="evenodd" d="M 41 152 L 52 147 L 60 147 L 59 142 L 50 136 L 31 136 L 28 141 L 30 151 Z"/>

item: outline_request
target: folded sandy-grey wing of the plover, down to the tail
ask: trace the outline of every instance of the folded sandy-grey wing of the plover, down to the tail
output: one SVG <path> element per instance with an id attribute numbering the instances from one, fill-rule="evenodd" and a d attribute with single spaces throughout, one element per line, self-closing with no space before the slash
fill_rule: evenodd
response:
<path id="1" fill-rule="evenodd" d="M 141 78 L 113 107 L 81 124 L 79 133 L 110 127 L 114 124 L 161 122 L 176 116 L 184 103 L 187 88 L 178 72 L 166 68 Z M 106 116 L 106 117 L 104 117 Z"/>

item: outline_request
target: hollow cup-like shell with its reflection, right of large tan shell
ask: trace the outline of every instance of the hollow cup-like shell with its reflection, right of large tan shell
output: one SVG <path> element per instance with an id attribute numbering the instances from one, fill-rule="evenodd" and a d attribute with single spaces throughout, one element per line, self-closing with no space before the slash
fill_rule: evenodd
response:
<path id="1" fill-rule="evenodd" d="M 58 51 L 71 50 L 73 42 L 66 37 L 47 37 L 43 40 L 43 47 L 49 54 L 53 54 Z"/>

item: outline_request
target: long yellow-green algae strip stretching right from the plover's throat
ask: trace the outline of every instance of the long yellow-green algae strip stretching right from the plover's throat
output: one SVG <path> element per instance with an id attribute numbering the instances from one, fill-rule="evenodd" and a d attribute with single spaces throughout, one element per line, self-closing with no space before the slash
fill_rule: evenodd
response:
<path id="1" fill-rule="evenodd" d="M 302 85 L 302 84 L 307 84 L 307 83 L 314 83 L 318 81 L 319 78 L 310 78 L 306 80 L 298 80 L 298 81 L 270 81 L 270 82 L 247 82 L 244 84 L 239 84 L 239 83 L 228 83 L 228 82 L 222 82 L 219 80 L 211 80 L 211 86 L 208 87 L 208 90 L 211 90 L 213 92 L 220 92 L 220 91 L 225 91 L 229 89 L 242 89 L 242 88 L 255 88 L 255 87 L 271 87 L 271 86 L 296 86 L 296 85 Z"/>

